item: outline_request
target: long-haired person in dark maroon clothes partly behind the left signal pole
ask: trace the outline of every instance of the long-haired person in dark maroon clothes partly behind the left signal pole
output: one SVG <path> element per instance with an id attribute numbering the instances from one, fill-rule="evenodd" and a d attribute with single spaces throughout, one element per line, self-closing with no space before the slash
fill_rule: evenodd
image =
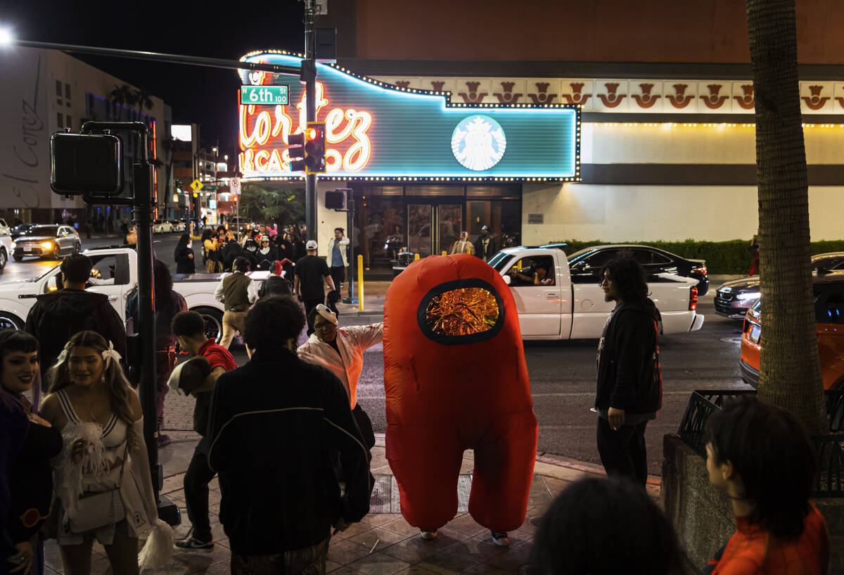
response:
<path id="1" fill-rule="evenodd" d="M 167 380 L 176 366 L 176 336 L 170 331 L 170 322 L 176 313 L 187 312 L 187 302 L 173 290 L 173 276 L 170 268 L 161 260 L 153 261 L 153 285 L 155 301 L 155 389 L 158 399 L 155 415 L 158 422 L 158 446 L 170 445 L 170 437 L 162 434 L 164 429 L 164 402 L 170 388 Z M 135 289 L 126 301 L 126 317 L 138 317 L 138 290 Z"/>

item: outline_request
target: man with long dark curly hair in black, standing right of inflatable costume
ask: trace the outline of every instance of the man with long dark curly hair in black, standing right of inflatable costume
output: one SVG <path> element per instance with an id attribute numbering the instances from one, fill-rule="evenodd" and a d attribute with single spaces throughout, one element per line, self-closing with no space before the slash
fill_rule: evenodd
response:
<path id="1" fill-rule="evenodd" d="M 615 308 L 598 343 L 598 453 L 607 475 L 642 487 L 647 482 L 645 427 L 662 407 L 657 342 L 659 312 L 647 295 L 647 278 L 634 259 L 610 260 L 601 288 Z"/>

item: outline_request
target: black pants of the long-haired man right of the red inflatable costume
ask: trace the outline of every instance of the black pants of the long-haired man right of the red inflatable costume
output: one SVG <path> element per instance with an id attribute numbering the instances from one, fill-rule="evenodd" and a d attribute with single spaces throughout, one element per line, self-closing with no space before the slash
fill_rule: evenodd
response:
<path id="1" fill-rule="evenodd" d="M 598 417 L 598 453 L 607 475 L 626 477 L 644 487 L 647 483 L 647 420 L 613 431 L 609 421 Z"/>

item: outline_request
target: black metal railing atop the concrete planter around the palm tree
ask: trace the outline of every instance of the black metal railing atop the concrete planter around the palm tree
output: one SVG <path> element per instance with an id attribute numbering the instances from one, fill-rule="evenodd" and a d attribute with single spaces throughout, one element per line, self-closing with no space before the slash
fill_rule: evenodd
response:
<path id="1" fill-rule="evenodd" d="M 677 435 L 695 453 L 706 458 L 706 421 L 720 410 L 724 399 L 754 394 L 755 390 L 695 390 L 691 393 Z M 826 413 L 830 432 L 812 436 L 818 458 L 813 496 L 844 497 L 844 390 L 827 391 Z"/>

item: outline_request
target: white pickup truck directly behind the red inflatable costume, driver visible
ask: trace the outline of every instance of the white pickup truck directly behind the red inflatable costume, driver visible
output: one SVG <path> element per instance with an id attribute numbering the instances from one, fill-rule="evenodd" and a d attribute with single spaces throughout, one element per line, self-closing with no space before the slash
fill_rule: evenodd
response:
<path id="1" fill-rule="evenodd" d="M 615 303 L 604 300 L 597 277 L 572 282 L 568 260 L 561 250 L 508 247 L 496 253 L 490 265 L 510 285 L 523 339 L 601 337 Z M 533 271 L 537 269 L 549 270 L 549 274 L 534 280 Z M 695 311 L 697 282 L 674 274 L 648 278 L 651 299 L 662 316 L 660 333 L 684 334 L 701 328 L 703 316 Z"/>

